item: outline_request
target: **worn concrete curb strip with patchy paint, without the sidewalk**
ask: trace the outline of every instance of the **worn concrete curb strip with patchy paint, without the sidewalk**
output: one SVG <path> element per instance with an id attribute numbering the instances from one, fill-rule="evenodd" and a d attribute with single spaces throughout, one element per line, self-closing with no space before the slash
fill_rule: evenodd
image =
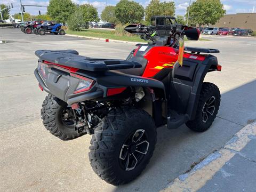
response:
<path id="1" fill-rule="evenodd" d="M 179 175 L 161 192 L 197 191 L 202 188 L 226 162 L 241 151 L 247 143 L 256 137 L 256 123 L 243 127 L 225 146 L 207 156 L 188 173 Z"/>

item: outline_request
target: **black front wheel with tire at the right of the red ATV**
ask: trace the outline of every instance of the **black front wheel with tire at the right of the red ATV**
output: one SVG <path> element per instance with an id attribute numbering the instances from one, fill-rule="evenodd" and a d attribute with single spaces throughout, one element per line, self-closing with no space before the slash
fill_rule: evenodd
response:
<path id="1" fill-rule="evenodd" d="M 186 125 L 196 132 L 203 132 L 212 125 L 220 107 L 220 91 L 213 83 L 203 83 L 196 117 Z"/>

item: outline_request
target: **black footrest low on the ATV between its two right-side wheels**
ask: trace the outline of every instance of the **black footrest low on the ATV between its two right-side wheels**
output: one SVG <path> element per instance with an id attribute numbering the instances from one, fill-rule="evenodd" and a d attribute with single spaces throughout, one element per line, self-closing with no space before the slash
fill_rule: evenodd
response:
<path id="1" fill-rule="evenodd" d="M 174 110 L 168 111 L 167 115 L 167 128 L 168 129 L 177 129 L 182 124 L 186 123 L 189 120 L 187 114 L 179 114 Z"/>

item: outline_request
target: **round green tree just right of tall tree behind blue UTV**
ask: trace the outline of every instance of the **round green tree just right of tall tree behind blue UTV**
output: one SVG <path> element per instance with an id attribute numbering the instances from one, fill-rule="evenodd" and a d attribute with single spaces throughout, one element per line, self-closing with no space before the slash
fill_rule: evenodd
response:
<path id="1" fill-rule="evenodd" d="M 92 5 L 84 4 L 79 6 L 78 9 L 81 10 L 83 14 L 81 20 L 84 23 L 88 24 L 91 21 L 98 22 L 100 20 L 97 9 Z"/>

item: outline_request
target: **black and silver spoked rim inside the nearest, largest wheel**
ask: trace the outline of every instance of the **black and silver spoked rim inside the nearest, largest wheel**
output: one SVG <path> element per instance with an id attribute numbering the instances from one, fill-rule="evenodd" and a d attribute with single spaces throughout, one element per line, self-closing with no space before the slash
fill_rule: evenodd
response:
<path id="1" fill-rule="evenodd" d="M 125 140 L 119 153 L 119 163 L 125 171 L 134 170 L 145 158 L 149 142 L 145 130 L 138 129 Z"/>

